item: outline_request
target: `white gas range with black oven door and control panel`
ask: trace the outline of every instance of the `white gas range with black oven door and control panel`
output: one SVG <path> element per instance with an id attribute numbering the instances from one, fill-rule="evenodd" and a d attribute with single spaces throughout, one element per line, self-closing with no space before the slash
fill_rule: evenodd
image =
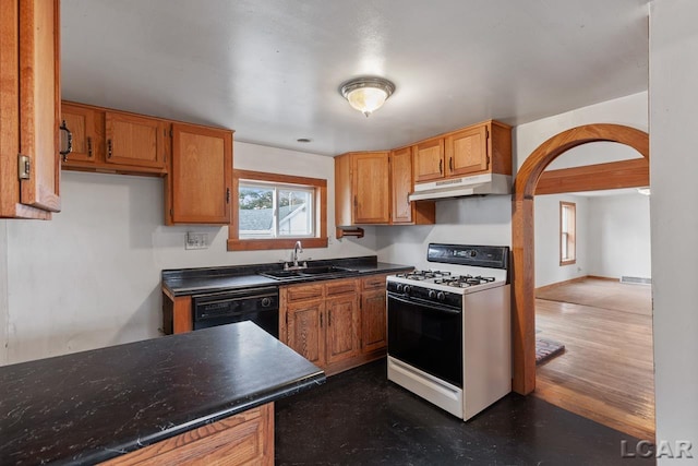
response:
<path id="1" fill-rule="evenodd" d="M 512 391 L 508 247 L 429 244 L 387 278 L 388 380 L 467 420 Z"/>

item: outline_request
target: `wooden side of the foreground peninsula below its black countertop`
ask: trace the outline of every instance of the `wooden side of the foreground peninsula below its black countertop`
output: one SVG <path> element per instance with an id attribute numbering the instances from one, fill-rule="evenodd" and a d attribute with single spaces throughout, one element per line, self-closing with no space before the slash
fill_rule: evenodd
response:
<path id="1" fill-rule="evenodd" d="M 274 403 L 249 409 L 103 463 L 273 465 Z"/>

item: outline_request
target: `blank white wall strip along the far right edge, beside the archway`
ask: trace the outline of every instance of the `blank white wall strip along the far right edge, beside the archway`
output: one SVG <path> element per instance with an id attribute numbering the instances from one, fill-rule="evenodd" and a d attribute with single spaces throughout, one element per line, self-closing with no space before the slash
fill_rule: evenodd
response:
<path id="1" fill-rule="evenodd" d="M 650 174 L 658 441 L 698 459 L 698 2 L 650 3 Z"/>

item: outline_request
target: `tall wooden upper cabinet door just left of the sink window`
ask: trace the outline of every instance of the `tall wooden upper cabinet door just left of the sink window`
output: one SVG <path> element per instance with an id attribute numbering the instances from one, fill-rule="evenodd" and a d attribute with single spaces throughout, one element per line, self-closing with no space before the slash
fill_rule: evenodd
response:
<path id="1" fill-rule="evenodd" d="M 229 224 L 231 179 L 231 131 L 172 124 L 172 223 Z"/>

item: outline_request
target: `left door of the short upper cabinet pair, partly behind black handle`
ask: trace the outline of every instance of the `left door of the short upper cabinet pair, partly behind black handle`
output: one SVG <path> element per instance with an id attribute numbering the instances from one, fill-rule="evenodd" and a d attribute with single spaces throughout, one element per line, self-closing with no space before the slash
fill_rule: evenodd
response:
<path id="1" fill-rule="evenodd" d="M 73 135 L 73 151 L 63 163 L 103 159 L 105 144 L 105 115 L 94 108 L 71 104 L 61 105 L 61 120 Z"/>

